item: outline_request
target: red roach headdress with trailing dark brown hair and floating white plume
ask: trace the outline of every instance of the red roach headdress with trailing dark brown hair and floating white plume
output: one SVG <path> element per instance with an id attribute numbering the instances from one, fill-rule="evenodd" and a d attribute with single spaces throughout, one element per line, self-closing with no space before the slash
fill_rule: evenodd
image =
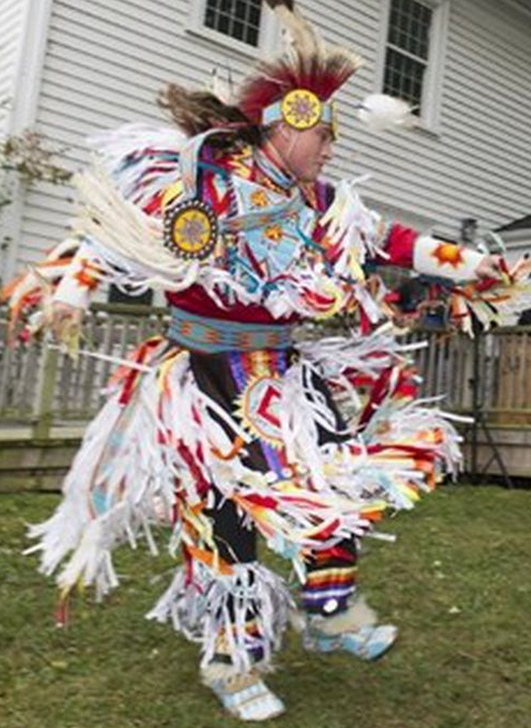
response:
<path id="1" fill-rule="evenodd" d="M 293 0 L 267 0 L 289 35 L 284 52 L 261 60 L 241 85 L 230 104 L 219 94 L 188 91 L 172 83 L 160 98 L 162 107 L 190 136 L 215 127 L 252 130 L 284 121 L 297 130 L 325 122 L 336 126 L 331 97 L 361 67 L 362 59 L 341 46 L 327 46 L 317 29 L 294 7 Z M 374 130 L 408 121 L 409 107 L 384 94 L 372 94 L 357 104 L 360 119 Z M 249 132 L 245 131 L 248 126 Z"/>

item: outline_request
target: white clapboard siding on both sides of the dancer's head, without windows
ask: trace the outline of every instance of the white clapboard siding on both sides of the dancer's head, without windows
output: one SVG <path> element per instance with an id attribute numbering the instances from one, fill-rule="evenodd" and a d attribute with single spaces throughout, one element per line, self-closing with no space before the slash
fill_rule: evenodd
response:
<path id="1" fill-rule="evenodd" d="M 440 135 L 375 135 L 354 120 L 353 104 L 376 90 L 383 0 L 300 5 L 327 40 L 354 46 L 366 61 L 341 94 L 332 175 L 371 171 L 370 202 L 451 236 L 462 217 L 484 229 L 529 213 L 530 16 L 498 0 L 452 0 Z M 54 1 L 37 122 L 67 147 L 68 166 L 87 159 L 83 138 L 94 128 L 159 119 L 155 98 L 166 81 L 201 85 L 227 63 L 241 76 L 250 58 L 191 33 L 189 12 L 189 0 Z M 19 259 L 58 239 L 70 210 L 57 188 L 32 191 Z"/>

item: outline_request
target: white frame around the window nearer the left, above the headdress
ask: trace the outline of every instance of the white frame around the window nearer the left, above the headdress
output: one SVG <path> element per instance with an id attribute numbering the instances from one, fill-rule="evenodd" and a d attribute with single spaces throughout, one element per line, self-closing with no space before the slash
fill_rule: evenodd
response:
<path id="1" fill-rule="evenodd" d="M 238 41 L 231 35 L 207 27 L 204 24 L 205 9 L 207 0 L 191 0 L 187 31 L 206 41 L 212 41 L 216 45 L 224 46 L 230 51 L 248 56 L 253 59 L 261 58 L 266 54 L 274 51 L 280 38 L 280 26 L 275 14 L 266 4 L 262 4 L 260 18 L 259 42 L 257 46 Z"/>

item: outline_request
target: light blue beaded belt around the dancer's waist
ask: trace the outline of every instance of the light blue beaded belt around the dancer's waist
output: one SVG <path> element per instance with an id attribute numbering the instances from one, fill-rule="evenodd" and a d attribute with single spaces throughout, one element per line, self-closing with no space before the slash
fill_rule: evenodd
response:
<path id="1" fill-rule="evenodd" d="M 171 307 L 169 339 L 205 354 L 285 349 L 292 345 L 293 326 L 285 324 L 245 324 L 236 321 L 197 316 Z"/>

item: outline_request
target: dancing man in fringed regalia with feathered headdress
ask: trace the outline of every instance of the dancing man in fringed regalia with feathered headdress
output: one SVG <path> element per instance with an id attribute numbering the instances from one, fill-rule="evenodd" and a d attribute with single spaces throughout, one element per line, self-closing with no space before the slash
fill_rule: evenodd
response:
<path id="1" fill-rule="evenodd" d="M 327 48 L 291 3 L 270 4 L 291 44 L 235 100 L 173 85 L 162 103 L 179 131 L 94 138 L 72 236 L 46 264 L 60 282 L 45 317 L 71 340 L 110 281 L 165 290 L 171 323 L 118 369 L 63 503 L 32 528 L 44 573 L 67 559 L 64 593 L 82 582 L 102 597 L 118 581 L 112 549 L 140 531 L 155 549 L 162 512 L 182 565 L 149 617 L 200 643 L 203 681 L 242 720 L 284 709 L 262 672 L 290 615 L 309 650 L 374 659 L 392 646 L 396 628 L 375 624 L 359 593 L 359 539 L 460 461 L 448 418 L 415 402 L 407 347 L 365 262 L 498 277 L 497 259 L 386 223 L 354 183 L 319 180 L 337 134 L 331 97 L 360 59 Z M 361 115 L 381 126 L 405 109 L 372 98 Z M 295 343 L 296 324 L 338 313 L 359 331 Z M 258 562 L 257 535 L 292 562 L 298 604 Z"/>

